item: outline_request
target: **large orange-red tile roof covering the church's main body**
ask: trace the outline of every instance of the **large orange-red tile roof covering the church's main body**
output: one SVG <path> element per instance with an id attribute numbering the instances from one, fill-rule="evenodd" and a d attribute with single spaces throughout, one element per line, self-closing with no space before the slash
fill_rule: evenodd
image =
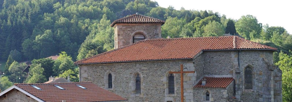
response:
<path id="1" fill-rule="evenodd" d="M 82 59 L 74 62 L 74 64 L 192 59 L 202 50 L 238 49 L 277 51 L 277 48 L 261 45 L 237 36 L 146 39 L 93 57 Z"/>

